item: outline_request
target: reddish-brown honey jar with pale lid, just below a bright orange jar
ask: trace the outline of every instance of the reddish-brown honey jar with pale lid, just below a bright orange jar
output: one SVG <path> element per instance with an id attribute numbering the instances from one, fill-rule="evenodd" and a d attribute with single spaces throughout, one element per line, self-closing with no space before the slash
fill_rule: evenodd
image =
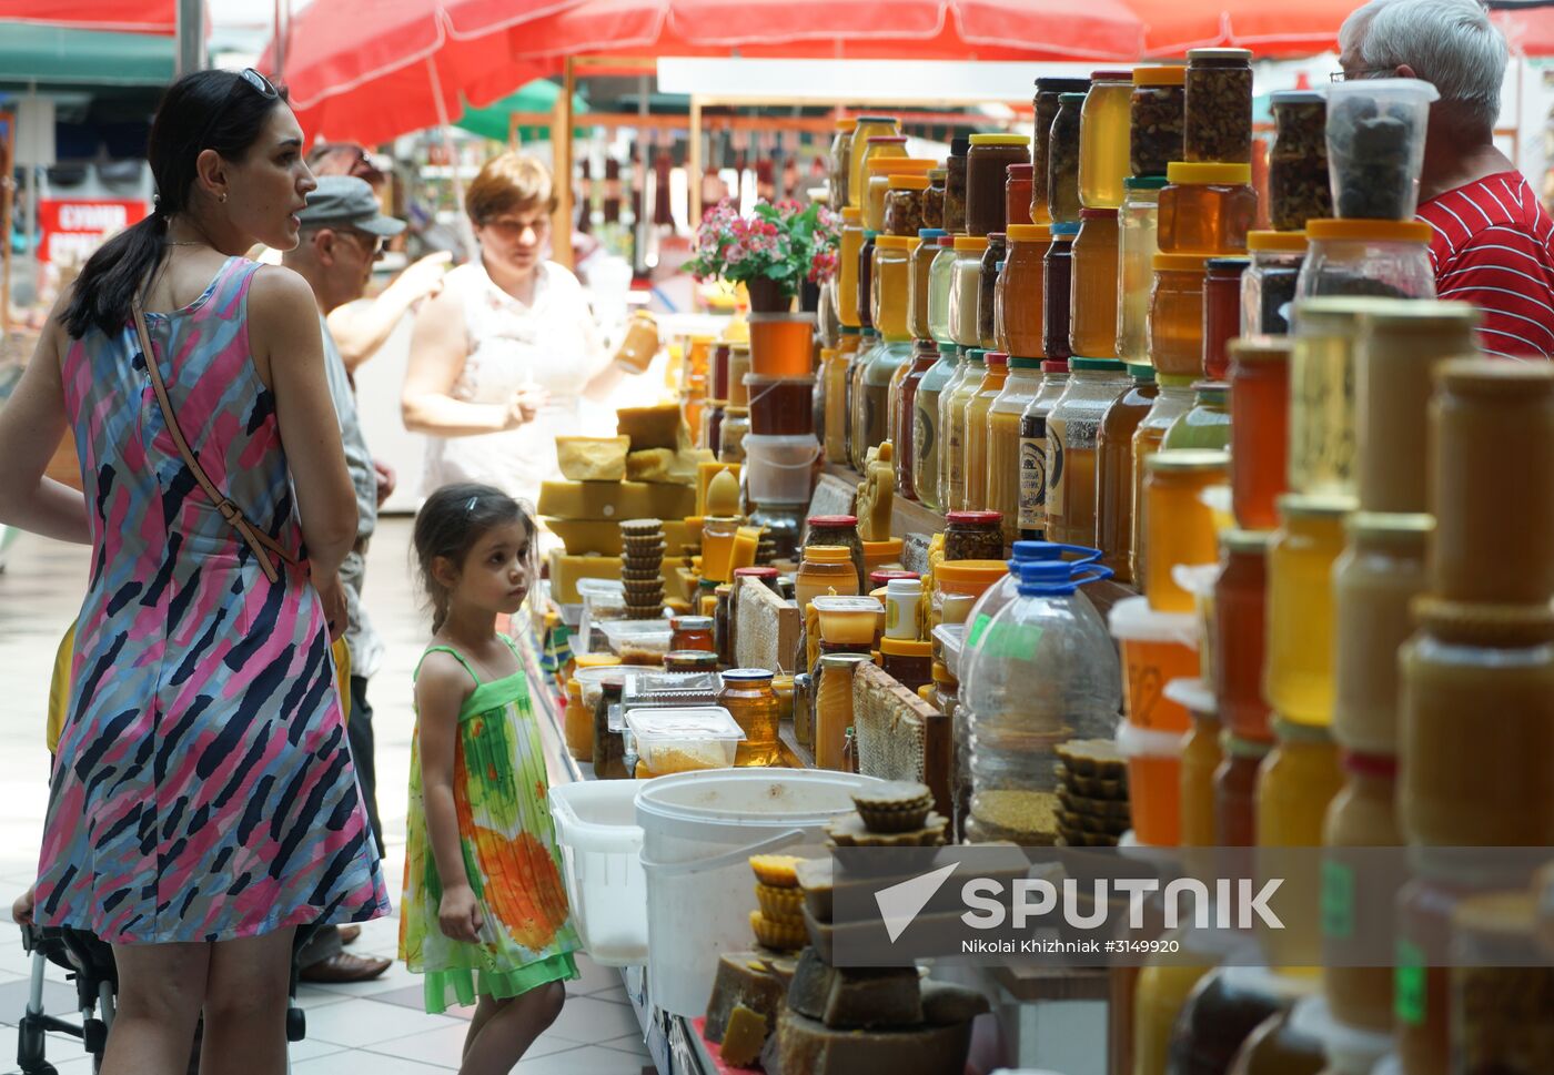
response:
<path id="1" fill-rule="evenodd" d="M 1220 719 L 1242 739 L 1273 738 L 1262 696 L 1267 632 L 1268 542 L 1263 530 L 1220 534 L 1220 576 L 1214 583 L 1214 694 Z"/>

